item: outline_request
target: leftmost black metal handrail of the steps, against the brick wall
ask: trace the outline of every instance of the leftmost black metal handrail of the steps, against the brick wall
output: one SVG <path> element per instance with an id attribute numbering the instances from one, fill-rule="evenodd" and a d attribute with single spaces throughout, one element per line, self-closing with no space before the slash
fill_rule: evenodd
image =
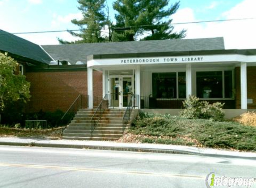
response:
<path id="1" fill-rule="evenodd" d="M 87 96 L 89 97 L 89 96 Z M 88 101 L 88 98 L 87 98 Z M 68 121 L 65 123 L 65 127 L 63 128 L 63 126 L 61 127 L 61 136 L 63 136 L 63 131 L 67 128 L 67 125 L 71 122 L 71 120 L 75 117 L 77 111 L 83 107 L 83 95 L 79 94 L 77 96 L 77 98 L 74 100 L 74 102 L 69 106 L 69 108 L 67 109 L 67 111 L 65 112 L 65 114 L 62 116 L 62 118 L 60 119 L 59 123 L 63 122 L 64 118 L 69 118 Z M 88 105 L 87 105 L 88 107 Z M 70 117 L 68 117 L 70 116 Z"/>

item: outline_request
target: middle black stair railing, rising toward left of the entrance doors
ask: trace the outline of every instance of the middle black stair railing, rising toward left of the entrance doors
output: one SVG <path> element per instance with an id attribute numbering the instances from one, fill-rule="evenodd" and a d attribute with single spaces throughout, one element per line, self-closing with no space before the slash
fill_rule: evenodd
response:
<path id="1" fill-rule="evenodd" d="M 97 110 L 92 115 L 92 119 L 91 119 L 92 133 L 94 129 L 97 127 L 97 124 L 99 123 L 99 121 L 101 120 L 103 112 L 109 106 L 107 99 L 108 99 L 108 94 L 105 94 L 104 98 L 102 98 L 99 106 L 97 107 Z M 104 101 L 107 101 L 107 104 L 105 104 Z"/>

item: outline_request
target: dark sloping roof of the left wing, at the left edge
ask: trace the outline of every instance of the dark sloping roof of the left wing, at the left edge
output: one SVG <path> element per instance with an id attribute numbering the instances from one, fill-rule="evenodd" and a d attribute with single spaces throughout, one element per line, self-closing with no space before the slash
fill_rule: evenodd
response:
<path id="1" fill-rule="evenodd" d="M 0 51 L 11 56 L 49 64 L 51 57 L 39 46 L 0 29 Z"/>

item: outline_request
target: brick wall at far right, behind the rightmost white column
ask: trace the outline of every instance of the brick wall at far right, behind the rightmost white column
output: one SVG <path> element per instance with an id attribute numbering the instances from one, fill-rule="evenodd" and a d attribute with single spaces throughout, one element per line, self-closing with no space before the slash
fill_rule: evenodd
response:
<path id="1" fill-rule="evenodd" d="M 256 109 L 256 67 L 247 67 L 247 98 L 252 99 L 248 109 Z M 240 67 L 235 67 L 235 108 L 241 108 Z"/>

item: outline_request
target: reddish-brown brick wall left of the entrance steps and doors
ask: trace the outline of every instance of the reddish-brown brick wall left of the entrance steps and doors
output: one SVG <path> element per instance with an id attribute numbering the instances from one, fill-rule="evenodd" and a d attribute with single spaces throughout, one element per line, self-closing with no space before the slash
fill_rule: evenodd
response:
<path id="1" fill-rule="evenodd" d="M 27 72 L 31 98 L 27 112 L 66 111 L 79 94 L 87 95 L 87 71 Z M 102 73 L 93 72 L 94 96 L 102 98 Z"/>

